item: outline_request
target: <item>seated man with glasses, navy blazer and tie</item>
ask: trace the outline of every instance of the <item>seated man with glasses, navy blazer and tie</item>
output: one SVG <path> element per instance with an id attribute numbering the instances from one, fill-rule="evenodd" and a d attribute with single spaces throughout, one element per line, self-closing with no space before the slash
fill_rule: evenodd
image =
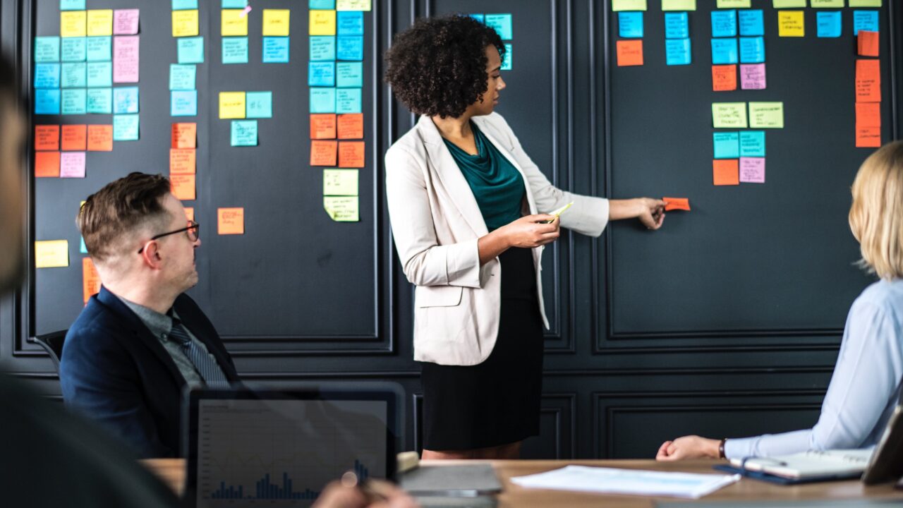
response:
<path id="1" fill-rule="evenodd" d="M 140 456 L 180 454 L 182 391 L 238 381 L 219 334 L 184 291 L 198 282 L 198 224 L 162 175 L 88 196 L 79 230 L 103 286 L 69 329 L 63 400 Z"/>

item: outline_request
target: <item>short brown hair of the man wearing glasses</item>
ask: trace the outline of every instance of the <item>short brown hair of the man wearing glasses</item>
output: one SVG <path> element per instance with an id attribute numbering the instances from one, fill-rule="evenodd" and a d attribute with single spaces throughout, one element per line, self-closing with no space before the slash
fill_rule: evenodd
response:
<path id="1" fill-rule="evenodd" d="M 116 254 L 138 228 L 165 227 L 172 221 L 163 208 L 168 193 L 170 182 L 162 174 L 132 173 L 89 195 L 75 222 L 91 258 L 103 262 Z"/>

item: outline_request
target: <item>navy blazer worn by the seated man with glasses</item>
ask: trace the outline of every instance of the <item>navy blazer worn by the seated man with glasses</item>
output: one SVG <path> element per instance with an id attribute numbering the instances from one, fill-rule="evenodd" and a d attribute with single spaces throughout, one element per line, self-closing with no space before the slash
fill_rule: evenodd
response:
<path id="1" fill-rule="evenodd" d="M 194 300 L 182 294 L 172 307 L 228 381 L 237 382 L 219 334 Z M 91 296 L 66 334 L 60 383 L 67 406 L 125 439 L 140 456 L 181 453 L 187 383 L 160 339 L 106 287 Z"/>

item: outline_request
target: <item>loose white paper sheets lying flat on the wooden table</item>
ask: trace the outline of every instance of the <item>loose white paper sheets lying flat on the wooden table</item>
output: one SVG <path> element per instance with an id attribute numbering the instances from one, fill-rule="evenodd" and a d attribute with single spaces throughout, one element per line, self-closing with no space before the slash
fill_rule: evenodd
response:
<path id="1" fill-rule="evenodd" d="M 699 498 L 740 480 L 740 475 L 698 475 L 611 467 L 566 466 L 537 475 L 517 476 L 511 483 L 527 488 L 573 490 L 600 494 L 666 495 Z"/>

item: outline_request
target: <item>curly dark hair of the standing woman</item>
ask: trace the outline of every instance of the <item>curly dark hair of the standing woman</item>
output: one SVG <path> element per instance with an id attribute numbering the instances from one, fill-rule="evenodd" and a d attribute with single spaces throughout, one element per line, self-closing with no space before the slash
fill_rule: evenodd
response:
<path id="1" fill-rule="evenodd" d="M 486 92 L 486 47 L 505 44 L 495 30 L 467 14 L 417 20 L 386 52 L 386 83 L 418 115 L 460 117 Z"/>

